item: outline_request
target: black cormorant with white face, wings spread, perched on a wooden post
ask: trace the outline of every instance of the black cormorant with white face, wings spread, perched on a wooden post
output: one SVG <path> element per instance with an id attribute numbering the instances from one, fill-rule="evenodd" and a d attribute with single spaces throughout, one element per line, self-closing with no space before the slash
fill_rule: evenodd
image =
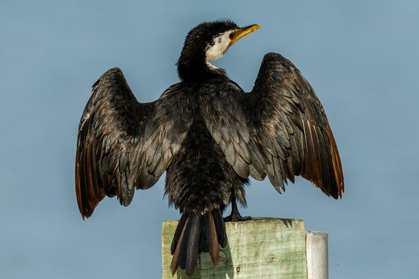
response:
<path id="1" fill-rule="evenodd" d="M 140 103 L 118 68 L 93 84 L 80 120 L 75 184 L 83 218 L 105 197 L 127 206 L 135 189 L 167 171 L 165 195 L 181 212 L 171 271 L 192 276 L 198 254 L 217 266 L 225 221 L 241 221 L 248 177 L 269 177 L 281 193 L 301 175 L 335 199 L 344 192 L 338 149 L 323 107 L 300 71 L 279 54 L 264 56 L 251 92 L 210 64 L 258 29 L 229 20 L 189 31 L 178 60 L 181 81 Z M 222 213 L 231 203 L 231 214 Z"/>

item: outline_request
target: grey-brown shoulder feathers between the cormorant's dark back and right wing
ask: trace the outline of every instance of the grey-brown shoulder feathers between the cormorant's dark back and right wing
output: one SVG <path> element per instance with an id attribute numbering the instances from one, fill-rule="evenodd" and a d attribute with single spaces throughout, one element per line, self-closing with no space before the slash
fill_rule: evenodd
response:
<path id="1" fill-rule="evenodd" d="M 250 137 L 246 115 L 237 101 L 237 94 L 243 90 L 227 78 L 204 90 L 207 92 L 199 96 L 201 115 L 228 164 L 240 177 L 264 179 L 264 160 Z"/>

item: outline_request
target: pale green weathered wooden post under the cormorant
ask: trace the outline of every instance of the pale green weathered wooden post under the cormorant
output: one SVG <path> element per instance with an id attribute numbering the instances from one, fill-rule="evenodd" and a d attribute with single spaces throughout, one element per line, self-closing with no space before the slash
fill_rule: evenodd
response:
<path id="1" fill-rule="evenodd" d="M 163 279 L 190 278 L 178 269 L 172 277 L 170 246 L 178 221 L 163 222 Z M 192 278 L 307 279 L 305 224 L 303 220 L 254 218 L 227 222 L 228 245 L 220 247 L 220 261 L 214 269 L 208 253 L 199 255 Z"/>

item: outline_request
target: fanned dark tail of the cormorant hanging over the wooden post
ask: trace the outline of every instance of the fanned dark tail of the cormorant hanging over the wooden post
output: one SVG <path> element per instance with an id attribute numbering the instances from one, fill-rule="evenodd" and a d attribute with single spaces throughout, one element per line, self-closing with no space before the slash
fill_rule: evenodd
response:
<path id="1" fill-rule="evenodd" d="M 171 246 L 172 275 L 180 267 L 185 269 L 186 275 L 192 276 L 197 265 L 198 254 L 201 252 L 209 252 L 212 264 L 216 267 L 220 256 L 219 244 L 223 248 L 227 245 L 224 220 L 219 209 L 204 215 L 183 214 Z"/>

